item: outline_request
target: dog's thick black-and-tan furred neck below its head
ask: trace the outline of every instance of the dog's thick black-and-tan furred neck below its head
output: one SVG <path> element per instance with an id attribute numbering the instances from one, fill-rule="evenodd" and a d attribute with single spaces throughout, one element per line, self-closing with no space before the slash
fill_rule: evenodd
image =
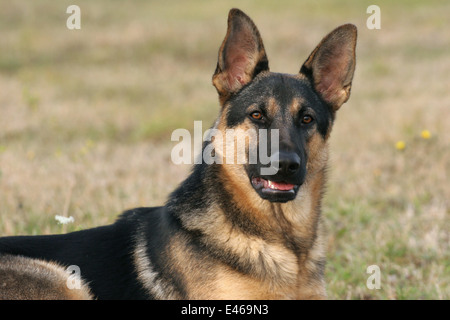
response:
<path id="1" fill-rule="evenodd" d="M 275 253 L 281 251 L 297 257 L 298 261 L 313 247 L 320 221 L 326 170 L 320 170 L 305 181 L 293 201 L 271 203 L 261 199 L 258 203 L 248 203 L 242 198 L 245 196 L 242 190 L 227 188 L 227 181 L 219 179 L 223 178 L 222 169 L 217 164 L 195 165 L 191 175 L 169 198 L 167 208 L 183 229 L 195 232 L 199 239 L 214 238 L 214 241 L 205 240 L 203 243 L 218 244 L 218 247 L 211 247 L 211 251 L 220 252 L 217 254 L 220 257 L 227 256 L 223 254 L 226 252 L 230 261 L 255 254 L 253 249 L 264 251 L 261 257 L 268 259 L 282 258 L 280 252 Z M 233 244 L 237 241 L 233 239 L 239 239 L 239 243 Z M 269 243 L 274 243 L 274 248 L 265 244 L 258 247 L 263 243 L 262 239 L 270 239 Z M 236 250 L 244 253 L 237 254 Z M 254 265 L 250 262 L 248 259 L 237 266 L 245 272 L 246 268 L 261 265 L 258 261 Z M 267 271 L 261 270 L 261 274 L 264 272 Z"/>

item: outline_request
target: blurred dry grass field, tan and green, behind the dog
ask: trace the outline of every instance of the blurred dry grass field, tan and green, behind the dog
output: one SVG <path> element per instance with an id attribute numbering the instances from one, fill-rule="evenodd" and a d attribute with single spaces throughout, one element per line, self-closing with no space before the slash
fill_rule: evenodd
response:
<path id="1" fill-rule="evenodd" d="M 218 114 L 211 76 L 236 6 L 278 72 L 297 72 L 336 26 L 359 30 L 330 142 L 329 298 L 450 298 L 449 1 L 377 1 L 380 30 L 365 0 L 80 0 L 81 30 L 66 28 L 70 4 L 0 0 L 0 236 L 163 204 L 189 170 L 170 160 L 171 132 Z"/>

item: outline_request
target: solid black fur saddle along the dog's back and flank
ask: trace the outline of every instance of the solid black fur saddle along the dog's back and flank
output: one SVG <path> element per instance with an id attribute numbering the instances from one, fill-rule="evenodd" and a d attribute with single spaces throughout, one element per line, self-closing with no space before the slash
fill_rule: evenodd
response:
<path id="1" fill-rule="evenodd" d="M 0 252 L 23 255 L 63 266 L 77 265 L 95 296 L 103 299 L 148 299 L 136 281 L 131 257 L 139 224 L 158 224 L 160 208 L 125 212 L 116 223 L 63 235 L 0 238 Z M 158 232 L 158 228 L 152 228 Z M 156 237 L 155 237 L 156 240 Z"/>

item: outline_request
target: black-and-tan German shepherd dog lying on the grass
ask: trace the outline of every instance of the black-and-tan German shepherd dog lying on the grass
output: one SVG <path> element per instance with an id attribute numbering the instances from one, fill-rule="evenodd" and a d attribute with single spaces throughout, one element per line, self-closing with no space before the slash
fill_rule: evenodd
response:
<path id="1" fill-rule="evenodd" d="M 221 106 L 213 128 L 278 130 L 269 164 L 276 172 L 261 174 L 259 160 L 202 162 L 162 207 L 128 210 L 112 225 L 68 234 L 0 238 L 0 296 L 26 297 L 27 281 L 51 291 L 66 279 L 61 271 L 76 265 L 85 283 L 78 298 L 326 298 L 320 211 L 327 141 L 350 96 L 356 35 L 354 25 L 340 26 L 299 73 L 273 73 L 255 24 L 232 9 L 212 78 Z M 258 147 L 245 139 L 246 152 Z M 203 150 L 223 145 L 205 139 Z"/>

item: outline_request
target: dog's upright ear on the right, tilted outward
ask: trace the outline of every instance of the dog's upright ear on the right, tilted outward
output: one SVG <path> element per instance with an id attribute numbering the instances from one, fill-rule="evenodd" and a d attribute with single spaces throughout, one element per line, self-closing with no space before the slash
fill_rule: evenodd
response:
<path id="1" fill-rule="evenodd" d="M 353 24 L 336 28 L 323 38 L 300 69 L 334 111 L 350 97 L 356 63 L 356 36 Z"/>

